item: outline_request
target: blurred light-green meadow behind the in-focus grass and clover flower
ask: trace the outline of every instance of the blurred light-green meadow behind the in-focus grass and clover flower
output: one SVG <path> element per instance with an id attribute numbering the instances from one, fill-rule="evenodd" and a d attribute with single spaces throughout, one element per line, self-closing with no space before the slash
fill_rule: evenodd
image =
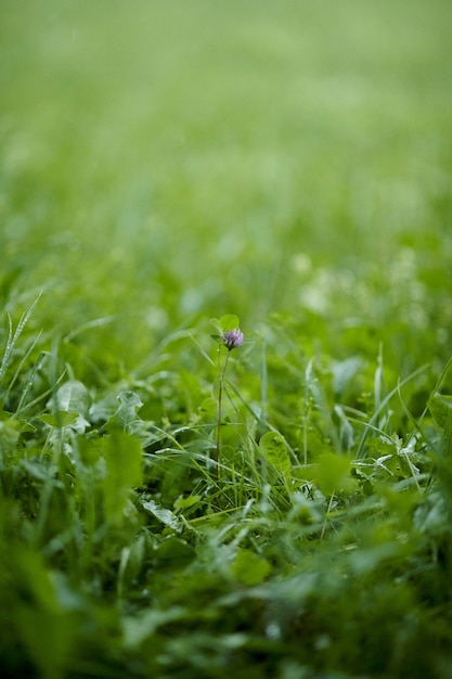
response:
<path id="1" fill-rule="evenodd" d="M 225 312 L 449 356 L 451 35 L 449 0 L 2 0 L 3 307 L 88 348 L 119 315 L 131 364 Z"/>

